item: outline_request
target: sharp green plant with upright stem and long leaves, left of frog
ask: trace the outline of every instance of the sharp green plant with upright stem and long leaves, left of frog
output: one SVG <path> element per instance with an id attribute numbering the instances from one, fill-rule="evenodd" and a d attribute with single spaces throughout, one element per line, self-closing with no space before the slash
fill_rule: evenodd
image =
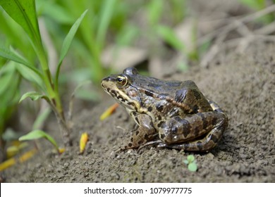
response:
<path id="1" fill-rule="evenodd" d="M 31 63 L 23 55 L 18 53 L 18 51 L 13 49 L 12 46 L 5 47 L 5 44 L 1 44 L 0 56 L 8 61 L 7 64 L 11 63 L 9 61 L 16 63 L 16 70 L 18 70 L 22 76 L 25 76 L 25 79 L 35 85 L 35 87 L 39 90 L 28 91 L 21 96 L 20 101 L 23 101 L 25 98 L 31 98 L 33 101 L 39 98 L 44 98 L 56 115 L 56 118 L 60 124 L 61 132 L 63 132 L 65 144 L 71 144 L 69 127 L 66 123 L 66 118 L 63 113 L 63 105 L 61 103 L 61 96 L 59 94 L 59 73 L 63 58 L 65 58 L 68 53 L 68 49 L 71 46 L 73 37 L 75 36 L 75 32 L 78 30 L 78 27 L 87 13 L 87 10 L 82 13 L 80 18 L 78 18 L 75 23 L 73 23 L 68 34 L 66 34 L 61 47 L 59 61 L 56 62 L 53 72 L 49 68 L 49 60 L 47 57 L 47 52 L 49 52 L 49 50 L 44 48 L 44 44 L 42 42 L 42 34 L 40 34 L 39 30 L 35 0 L 0 0 L 0 6 L 9 15 L 9 17 L 16 21 L 16 23 L 18 23 L 18 25 L 20 25 L 20 27 L 24 30 L 30 42 L 29 45 L 32 46 L 38 60 L 38 64 Z M 4 65 L 2 68 L 3 69 L 1 70 L 11 68 L 11 65 Z M 8 80 L 6 80 L 6 78 Z M 5 73 L 1 74 L 1 80 L 4 82 L 4 87 L 8 87 L 8 90 L 9 87 L 11 87 L 11 83 L 13 83 L 13 79 L 9 80 L 9 78 L 11 77 L 5 75 Z M 4 94 L 6 94 L 6 92 Z M 3 113 L 3 115 L 5 114 Z M 0 132 L 2 136 L 3 129 L 1 129 Z M 1 141 L 1 148 L 3 148 L 3 144 L 4 143 Z"/>

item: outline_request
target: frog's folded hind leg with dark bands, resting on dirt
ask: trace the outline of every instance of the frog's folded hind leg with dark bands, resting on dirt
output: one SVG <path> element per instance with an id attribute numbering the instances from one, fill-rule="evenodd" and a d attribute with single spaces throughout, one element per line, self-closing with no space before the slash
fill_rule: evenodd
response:
<path id="1" fill-rule="evenodd" d="M 212 111 L 197 113 L 185 118 L 173 117 L 159 129 L 158 147 L 186 151 L 209 151 L 216 146 L 228 125 L 224 113 Z"/>

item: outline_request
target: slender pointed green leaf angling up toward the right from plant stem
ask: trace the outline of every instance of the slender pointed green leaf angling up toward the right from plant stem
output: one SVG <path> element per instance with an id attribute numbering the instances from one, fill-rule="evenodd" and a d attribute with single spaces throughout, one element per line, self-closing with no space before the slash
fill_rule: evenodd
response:
<path id="1" fill-rule="evenodd" d="M 87 13 L 87 10 L 84 13 L 82 13 L 82 15 L 80 15 L 80 18 L 78 18 L 78 20 L 75 21 L 75 23 L 71 27 L 71 30 L 68 32 L 66 38 L 64 39 L 64 42 L 63 42 L 63 45 L 61 48 L 60 58 L 59 58 L 59 65 L 57 66 L 57 70 L 56 70 L 56 80 L 55 80 L 56 87 L 58 87 L 59 71 L 61 68 L 62 61 L 65 58 L 66 54 L 68 53 L 68 49 L 71 46 L 73 37 L 75 36 L 75 33 L 78 30 L 78 27 L 79 27 L 82 19 L 86 15 L 86 13 Z"/>

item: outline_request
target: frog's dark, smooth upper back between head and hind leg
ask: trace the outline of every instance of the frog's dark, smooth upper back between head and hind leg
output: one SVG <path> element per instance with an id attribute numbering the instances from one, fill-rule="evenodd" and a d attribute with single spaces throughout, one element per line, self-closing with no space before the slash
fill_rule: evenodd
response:
<path id="1" fill-rule="evenodd" d="M 146 96 L 152 96 L 155 101 L 166 100 L 178 106 L 185 114 L 194 114 L 211 111 L 212 107 L 204 97 L 195 82 L 166 81 L 154 77 L 140 76 L 135 78 L 133 84 Z"/>

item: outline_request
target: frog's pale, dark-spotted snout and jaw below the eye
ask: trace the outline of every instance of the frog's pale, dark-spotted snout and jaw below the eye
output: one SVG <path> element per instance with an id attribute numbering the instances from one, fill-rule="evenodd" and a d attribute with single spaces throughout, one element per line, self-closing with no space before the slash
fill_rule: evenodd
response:
<path id="1" fill-rule="evenodd" d="M 135 111 L 138 111 L 140 109 L 140 103 L 130 98 L 128 94 L 126 94 L 126 89 L 124 87 L 118 88 L 116 86 L 116 77 L 104 78 L 101 85 L 107 94 L 115 98 L 116 101 L 118 101 L 118 103 L 121 103 L 124 107 Z"/>

